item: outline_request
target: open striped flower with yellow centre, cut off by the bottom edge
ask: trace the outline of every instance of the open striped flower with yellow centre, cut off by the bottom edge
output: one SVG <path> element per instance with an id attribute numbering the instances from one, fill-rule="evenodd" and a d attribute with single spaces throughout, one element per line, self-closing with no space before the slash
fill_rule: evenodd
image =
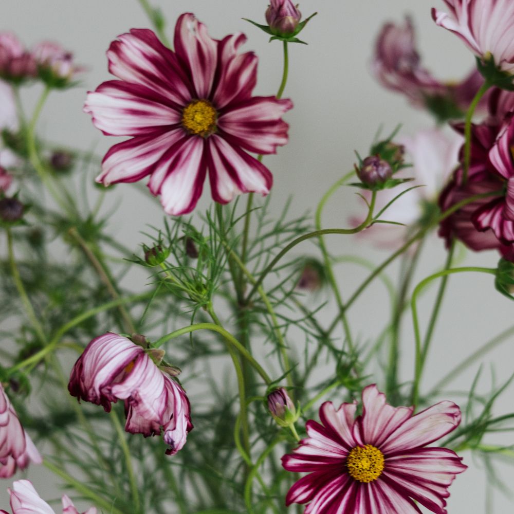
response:
<path id="1" fill-rule="evenodd" d="M 319 424 L 307 421 L 308 437 L 282 457 L 288 471 L 308 472 L 286 504 L 307 503 L 305 514 L 415 514 L 415 502 L 447 514 L 448 487 L 467 466 L 446 448 L 426 447 L 454 430 L 461 411 L 442 401 L 413 416 L 412 407 L 392 407 L 375 385 L 357 403 L 320 408 Z"/>

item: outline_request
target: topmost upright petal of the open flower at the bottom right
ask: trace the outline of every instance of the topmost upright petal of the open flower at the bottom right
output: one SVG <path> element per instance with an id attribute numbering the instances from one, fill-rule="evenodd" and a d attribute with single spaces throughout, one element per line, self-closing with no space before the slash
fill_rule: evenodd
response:
<path id="1" fill-rule="evenodd" d="M 362 416 L 354 432 L 360 427 L 363 444 L 373 445 L 385 453 L 386 440 L 412 416 L 410 407 L 392 407 L 386 403 L 386 395 L 372 384 L 362 391 Z M 423 445 L 421 445 L 423 446 Z"/>

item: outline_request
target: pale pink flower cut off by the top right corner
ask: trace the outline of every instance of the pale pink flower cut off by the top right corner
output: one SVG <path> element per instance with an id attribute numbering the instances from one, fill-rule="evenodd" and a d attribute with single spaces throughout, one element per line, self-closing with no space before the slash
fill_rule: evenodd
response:
<path id="1" fill-rule="evenodd" d="M 512 0 L 444 0 L 450 13 L 432 9 L 437 25 L 457 34 L 475 56 L 494 59 L 514 74 L 514 2 Z"/>

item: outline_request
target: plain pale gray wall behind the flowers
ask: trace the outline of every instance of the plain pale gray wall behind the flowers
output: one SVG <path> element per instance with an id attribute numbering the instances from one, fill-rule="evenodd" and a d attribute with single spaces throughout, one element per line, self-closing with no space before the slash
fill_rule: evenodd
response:
<path id="1" fill-rule="evenodd" d="M 194 12 L 209 26 L 213 37 L 243 30 L 248 35 L 244 48 L 255 50 L 260 56 L 257 94 L 271 95 L 277 90 L 282 70 L 281 45 L 267 43 L 264 33 L 241 20 L 249 17 L 263 21 L 266 0 L 174 0 L 156 1 L 169 20 L 168 33 L 172 35 L 177 16 L 185 11 Z M 418 42 L 427 67 L 440 78 L 459 78 L 473 65 L 473 57 L 455 36 L 437 28 L 430 17 L 430 7 L 442 7 L 440 0 L 304 0 L 304 15 L 318 11 L 318 16 L 302 33 L 308 46 L 292 45 L 290 48 L 290 76 L 285 96 L 295 101 L 295 109 L 287 114 L 291 124 L 290 142 L 279 150 L 278 156 L 266 157 L 266 164 L 274 174 L 272 205 L 279 212 L 287 195 L 295 196 L 291 214 L 314 210 L 324 191 L 342 173 L 351 169 L 354 149 L 365 152 L 377 126 L 384 122 L 393 128 L 403 123 L 403 133 L 431 126 L 428 115 L 412 109 L 405 98 L 383 90 L 369 72 L 372 45 L 380 26 L 387 20 L 401 21 L 403 14 L 411 13 L 418 29 Z M 87 66 L 84 84 L 65 93 L 51 95 L 42 115 L 40 130 L 47 138 L 71 146 L 90 149 L 96 144 L 102 154 L 115 142 L 115 138 L 102 137 L 82 113 L 86 89 L 95 88 L 109 79 L 106 70 L 105 50 L 117 34 L 132 27 L 148 27 L 142 9 L 136 0 L 3 0 L 0 4 L 0 29 L 12 30 L 27 44 L 42 39 L 53 39 L 76 54 L 77 62 Z M 29 102 L 39 94 L 37 87 L 28 92 Z M 206 194 L 207 193 L 207 194 Z M 348 216 L 355 213 L 356 201 L 353 190 L 341 191 L 329 204 L 325 227 L 344 227 Z M 162 211 L 149 195 L 143 195 L 132 186 L 121 186 L 112 193 L 112 205 L 118 200 L 119 207 L 111 221 L 111 230 L 123 238 L 127 246 L 137 248 L 144 241 L 140 232 L 149 223 L 159 225 Z M 208 189 L 199 207 L 208 203 Z M 386 254 L 370 244 L 332 236 L 329 240 L 335 253 L 357 251 L 375 261 Z M 313 246 L 305 246 L 314 251 Z M 299 250 L 300 251 L 300 250 Z M 435 237 L 428 245 L 417 281 L 433 272 L 444 260 L 442 243 Z M 494 266 L 494 252 L 468 255 L 467 263 Z M 392 277 L 395 277 L 394 268 Z M 355 268 L 342 267 L 338 279 L 344 291 L 351 291 L 359 282 Z M 421 303 L 422 321 L 431 305 L 431 295 Z M 376 335 L 383 326 L 389 311 L 386 296 L 380 285 L 371 287 L 366 295 L 350 311 L 350 319 L 362 341 Z M 479 347 L 501 329 L 509 326 L 512 304 L 496 293 L 489 276 L 462 275 L 450 280 L 445 300 L 445 313 L 441 317 L 434 337 L 434 349 L 425 374 L 425 387 L 462 359 L 463 355 Z M 333 309 L 326 309 L 326 319 L 332 319 Z M 412 328 L 409 318 L 405 322 L 405 337 L 401 373 L 403 378 L 412 376 Z M 489 366 L 494 365 L 498 381 L 504 381 L 513 371 L 514 341 L 505 343 L 500 350 L 485 359 L 484 379 L 481 390 L 490 387 Z M 466 391 L 477 370 L 459 378 L 454 389 Z M 454 398 L 458 401 L 458 398 Z M 512 411 L 512 388 L 505 393 L 497 406 L 497 413 Z M 512 444 L 512 438 L 502 439 Z M 485 510 L 485 474 L 472 462 L 469 453 L 465 462 L 471 466 L 458 476 L 451 487 L 449 512 L 479 514 Z M 512 483 L 514 472 L 509 466 L 501 466 L 501 475 Z M 31 467 L 29 477 L 43 497 L 57 495 L 52 486 L 53 478 L 43 468 Z M 0 508 L 7 507 L 5 489 L 10 480 L 0 484 Z M 494 508 L 487 514 L 507 514 L 514 503 L 499 493 L 494 493 Z M 60 510 L 58 510 L 60 512 Z"/>

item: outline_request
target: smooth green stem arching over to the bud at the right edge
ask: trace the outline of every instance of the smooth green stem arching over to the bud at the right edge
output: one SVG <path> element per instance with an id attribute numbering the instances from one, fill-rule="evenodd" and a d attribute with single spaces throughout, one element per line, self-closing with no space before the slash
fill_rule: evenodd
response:
<path id="1" fill-rule="evenodd" d="M 453 269 L 445 269 L 443 271 L 439 271 L 430 275 L 426 279 L 422 280 L 414 289 L 411 298 L 411 310 L 412 310 L 412 322 L 414 325 L 414 336 L 416 339 L 416 361 L 415 361 L 415 370 L 414 370 L 414 382 L 412 385 L 412 397 L 411 403 L 414 406 L 417 406 L 417 402 L 419 399 L 419 382 L 421 380 L 421 376 L 423 375 L 423 369 L 425 366 L 425 362 L 427 359 L 427 354 L 429 350 L 430 341 L 427 341 L 426 346 L 421 345 L 421 335 L 419 331 L 419 321 L 417 315 L 417 306 L 416 300 L 417 296 L 432 280 L 438 279 L 439 277 L 445 277 L 447 275 L 451 275 L 454 273 L 465 273 L 465 272 L 478 272 L 478 273 L 489 273 L 492 275 L 496 274 L 496 269 L 493 268 L 479 268 L 479 267 L 463 267 L 463 268 L 453 268 Z"/>

